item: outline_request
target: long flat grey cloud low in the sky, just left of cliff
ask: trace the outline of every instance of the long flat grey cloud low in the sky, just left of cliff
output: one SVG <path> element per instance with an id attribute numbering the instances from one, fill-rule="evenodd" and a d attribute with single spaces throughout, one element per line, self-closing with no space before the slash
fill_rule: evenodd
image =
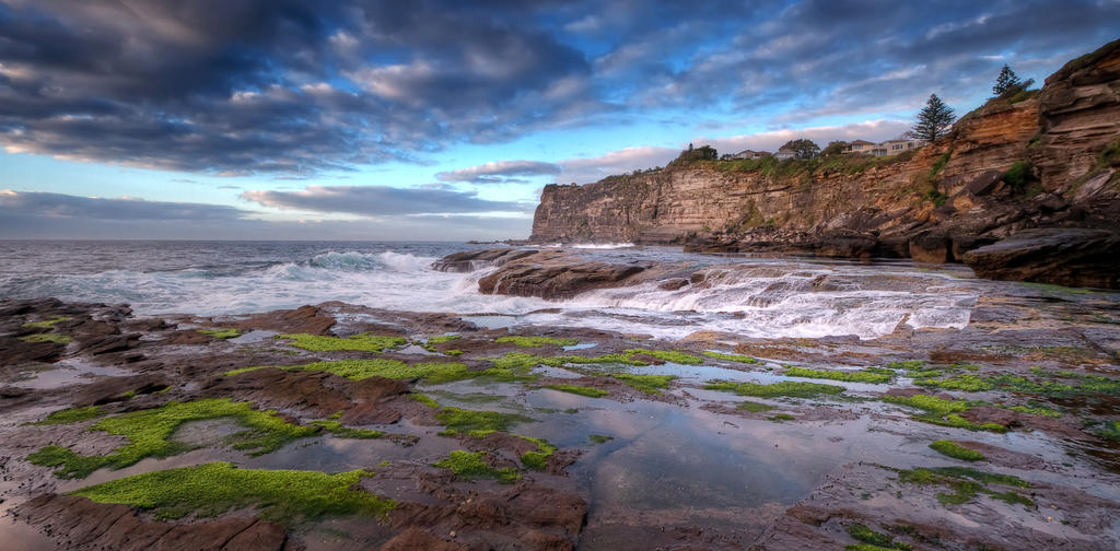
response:
<path id="1" fill-rule="evenodd" d="M 241 198 L 274 208 L 362 216 L 525 212 L 535 206 L 480 199 L 474 192 L 441 187 L 308 186 L 302 192 L 245 192 Z"/>

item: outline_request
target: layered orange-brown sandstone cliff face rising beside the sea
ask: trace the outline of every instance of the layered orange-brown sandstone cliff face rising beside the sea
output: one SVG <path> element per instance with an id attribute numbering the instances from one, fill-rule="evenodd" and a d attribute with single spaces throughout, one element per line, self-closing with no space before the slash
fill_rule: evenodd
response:
<path id="1" fill-rule="evenodd" d="M 1021 230 L 1114 230 L 1118 140 L 1120 40 L 909 157 L 700 161 L 547 186 L 531 241 L 961 261 Z"/>

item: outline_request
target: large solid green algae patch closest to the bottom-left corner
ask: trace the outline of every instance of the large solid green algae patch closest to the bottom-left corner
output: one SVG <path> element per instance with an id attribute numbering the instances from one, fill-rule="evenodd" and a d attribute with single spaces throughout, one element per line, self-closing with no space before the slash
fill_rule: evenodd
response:
<path id="1" fill-rule="evenodd" d="M 157 519 L 216 516 L 252 507 L 263 519 L 292 524 L 324 516 L 382 516 L 396 503 L 356 489 L 362 470 L 329 475 L 314 470 L 239 469 L 228 463 L 129 476 L 72 495 L 151 511 Z"/>

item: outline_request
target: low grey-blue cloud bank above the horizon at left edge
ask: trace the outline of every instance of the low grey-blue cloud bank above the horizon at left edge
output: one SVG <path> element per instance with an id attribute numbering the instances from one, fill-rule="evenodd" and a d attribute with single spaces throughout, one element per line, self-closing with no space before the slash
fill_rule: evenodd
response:
<path id="1" fill-rule="evenodd" d="M 78 197 L 43 192 L 0 189 L 0 218 L 119 221 L 235 221 L 253 214 L 222 205 L 129 198 Z"/>

